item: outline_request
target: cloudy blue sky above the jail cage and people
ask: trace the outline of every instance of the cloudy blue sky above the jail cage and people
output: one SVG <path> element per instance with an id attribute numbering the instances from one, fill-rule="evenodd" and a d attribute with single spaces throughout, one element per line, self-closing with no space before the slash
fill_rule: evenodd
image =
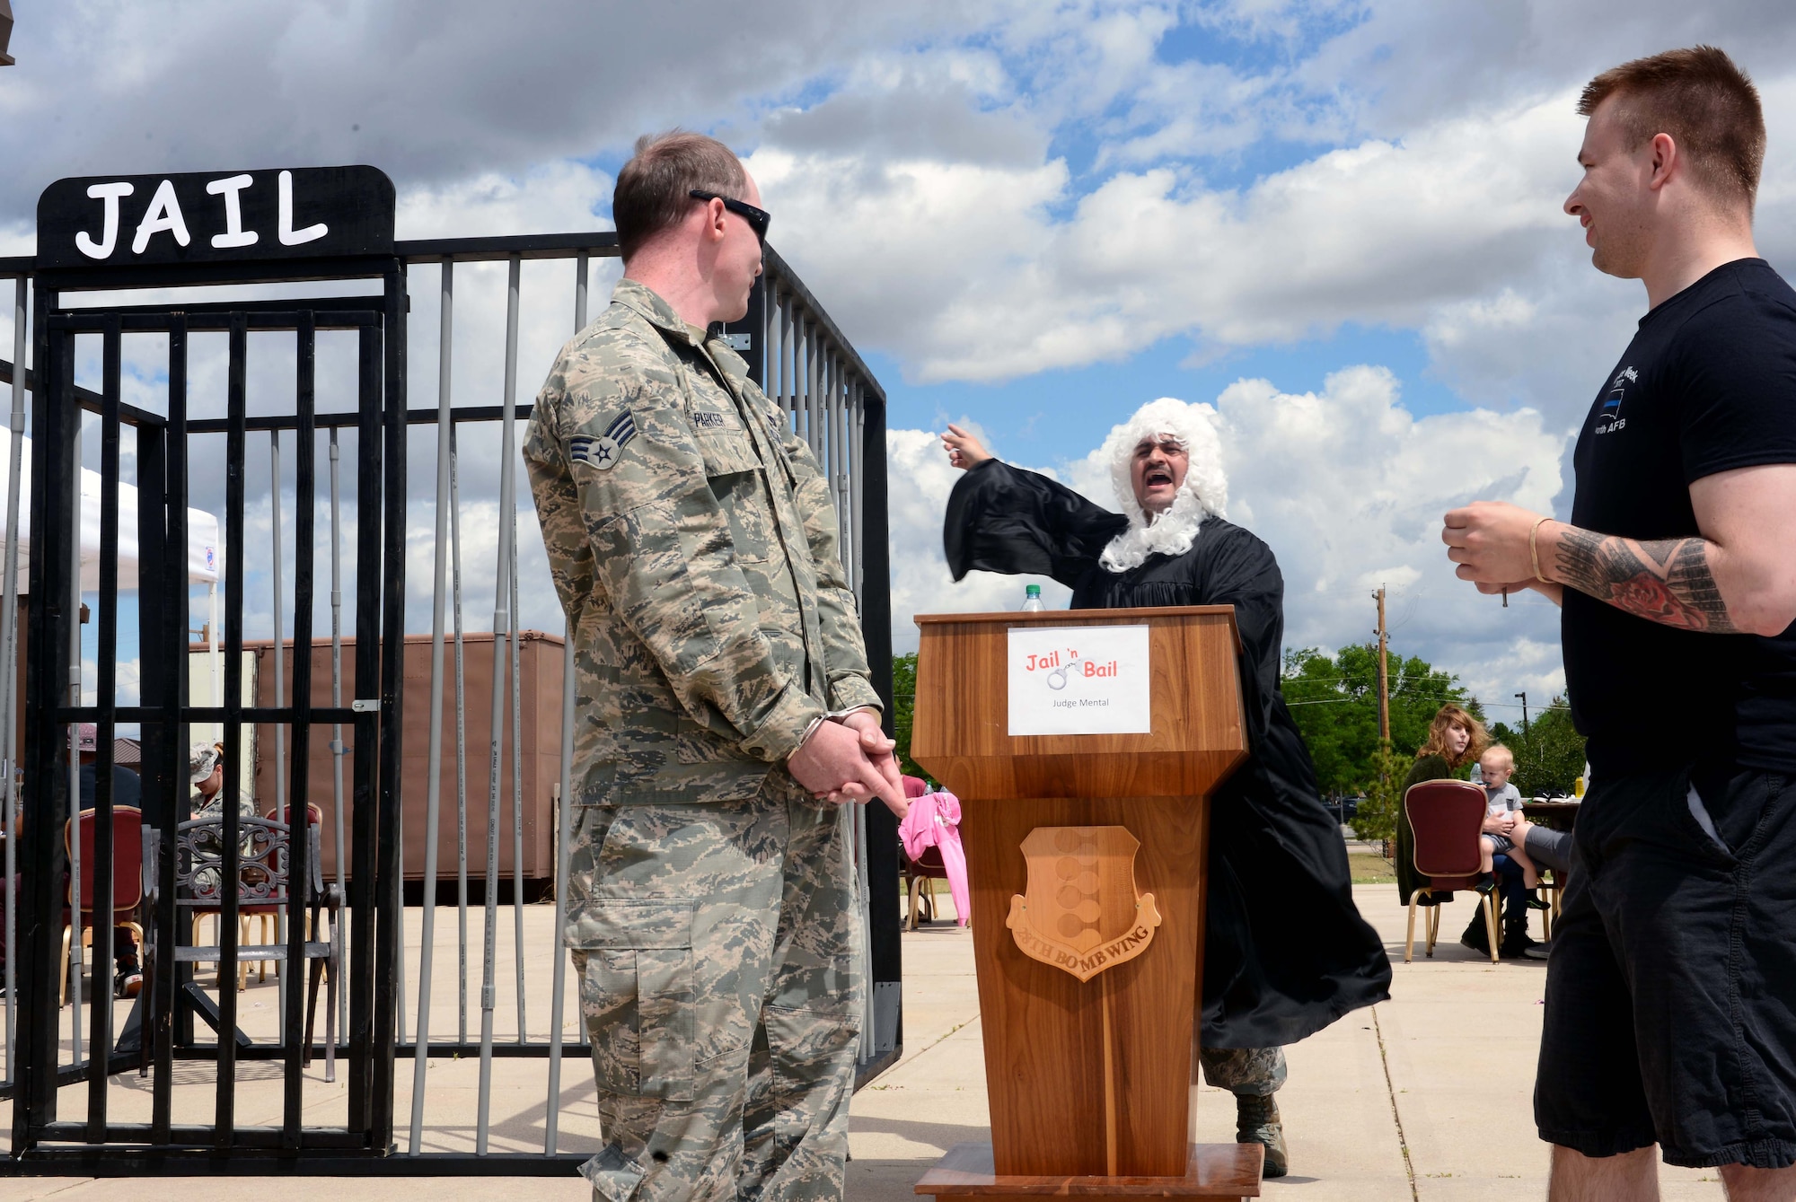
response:
<path id="1" fill-rule="evenodd" d="M 603 226 L 636 135 L 708 129 L 887 389 L 900 646 L 914 612 L 1020 592 L 948 581 L 954 474 L 927 432 L 970 418 L 1105 501 L 1092 450 L 1169 395 L 1216 407 L 1230 517 L 1281 558 L 1291 646 L 1363 639 L 1385 583 L 1401 649 L 1492 701 L 1561 685 L 1555 615 L 1455 581 L 1440 513 L 1568 511 L 1570 434 L 1643 307 L 1559 212 L 1579 86 L 1674 45 L 1731 50 L 1771 129 L 1760 246 L 1796 266 L 1796 16 L 1769 0 L 785 0 L 751 34 L 695 36 L 738 27 L 726 0 L 544 0 L 499 23 L 474 0 L 34 7 L 0 72 L 0 253 L 31 249 L 59 176 L 275 161 L 383 167 L 402 237 Z M 596 68 L 594 45 L 623 52 Z M 415 396 L 435 395 L 426 276 Z M 496 339 L 474 332 L 499 287 L 458 276 L 462 398 L 494 395 Z M 568 335 L 557 289 L 526 273 L 521 395 Z M 497 463 L 471 456 L 469 597 L 490 597 Z M 266 630 L 266 585 L 251 605 Z M 526 621 L 559 628 L 541 587 Z"/>

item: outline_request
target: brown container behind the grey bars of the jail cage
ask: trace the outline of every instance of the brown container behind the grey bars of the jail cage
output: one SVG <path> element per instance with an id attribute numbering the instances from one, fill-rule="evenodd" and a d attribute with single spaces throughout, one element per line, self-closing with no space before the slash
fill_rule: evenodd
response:
<path id="1" fill-rule="evenodd" d="M 487 872 L 487 788 L 492 761 L 492 635 L 463 635 L 463 701 L 467 728 L 467 874 L 476 883 Z M 275 703 L 275 666 L 269 660 L 273 642 L 244 642 L 257 653 L 257 705 Z M 284 644 L 282 669 L 287 689 L 293 689 L 293 640 Z M 506 658 L 510 655 L 506 653 Z M 408 881 L 424 879 L 424 822 L 429 802 L 429 727 L 431 727 L 431 637 L 406 635 L 404 680 L 404 757 L 399 788 L 404 813 L 404 874 Z M 560 782 L 560 694 L 562 694 L 562 639 L 537 630 L 519 635 L 519 680 L 523 684 L 523 811 L 524 811 L 524 879 L 551 881 L 555 877 L 555 786 Z M 343 639 L 343 705 L 357 694 L 356 640 Z M 456 797 L 454 797 L 454 640 L 444 639 L 444 732 L 442 732 L 442 793 L 440 831 L 436 843 L 436 879 L 456 877 Z M 313 705 L 330 703 L 330 640 L 313 642 Z M 499 877 L 512 877 L 512 692 L 506 671 L 505 691 L 505 745 L 499 771 Z M 354 728 L 345 725 L 343 743 L 354 752 Z M 275 728 L 257 727 L 255 798 L 268 813 L 275 807 Z M 287 771 L 293 770 L 289 737 Z M 311 780 L 313 806 L 325 816 L 323 872 L 336 872 L 330 818 L 330 723 L 313 727 Z M 343 838 L 354 849 L 354 755 L 343 757 Z"/>

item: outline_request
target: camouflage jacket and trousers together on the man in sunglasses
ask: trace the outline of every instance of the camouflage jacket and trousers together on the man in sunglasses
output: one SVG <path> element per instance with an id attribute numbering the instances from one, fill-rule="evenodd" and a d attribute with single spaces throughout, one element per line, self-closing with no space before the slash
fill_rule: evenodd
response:
<path id="1" fill-rule="evenodd" d="M 850 827 L 785 761 L 880 700 L 828 484 L 747 364 L 632 278 L 562 348 L 524 459 L 575 639 L 585 1175 L 605 1202 L 839 1198 Z"/>

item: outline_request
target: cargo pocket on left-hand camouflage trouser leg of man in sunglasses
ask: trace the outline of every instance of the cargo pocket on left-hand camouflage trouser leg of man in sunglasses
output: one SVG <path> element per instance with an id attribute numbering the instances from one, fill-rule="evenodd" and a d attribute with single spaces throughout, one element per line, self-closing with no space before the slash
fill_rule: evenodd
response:
<path id="1" fill-rule="evenodd" d="M 691 902 L 600 897 L 573 908 L 580 1012 L 600 1089 L 691 1102 L 697 1048 Z"/>

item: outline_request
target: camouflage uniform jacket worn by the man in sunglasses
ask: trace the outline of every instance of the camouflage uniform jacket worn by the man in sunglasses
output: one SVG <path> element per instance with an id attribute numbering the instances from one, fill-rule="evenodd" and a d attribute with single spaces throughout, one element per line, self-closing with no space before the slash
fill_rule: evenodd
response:
<path id="1" fill-rule="evenodd" d="M 575 639 L 582 806 L 754 797 L 814 718 L 878 707 L 815 457 L 722 341 L 634 280 L 524 440 Z"/>

